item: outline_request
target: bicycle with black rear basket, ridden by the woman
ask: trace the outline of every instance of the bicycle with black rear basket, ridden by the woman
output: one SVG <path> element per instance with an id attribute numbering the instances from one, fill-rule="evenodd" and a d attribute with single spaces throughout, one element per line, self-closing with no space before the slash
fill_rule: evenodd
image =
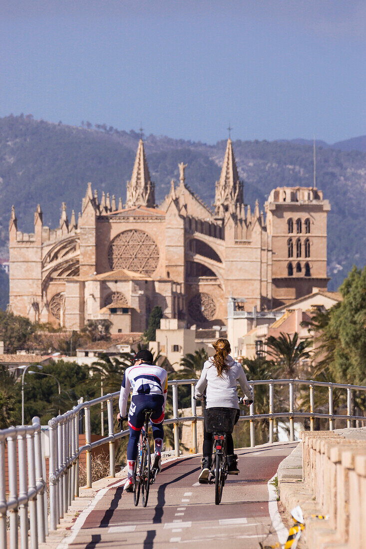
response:
<path id="1" fill-rule="evenodd" d="M 238 399 L 241 404 L 249 406 L 251 400 Z M 215 505 L 220 505 L 225 480 L 228 477 L 228 453 L 226 451 L 226 434 L 232 433 L 235 425 L 236 410 L 232 408 L 209 408 L 210 413 L 206 414 L 206 430 L 212 433 L 212 466 L 209 484 L 215 479 Z M 208 412 L 207 410 L 207 412 Z"/>

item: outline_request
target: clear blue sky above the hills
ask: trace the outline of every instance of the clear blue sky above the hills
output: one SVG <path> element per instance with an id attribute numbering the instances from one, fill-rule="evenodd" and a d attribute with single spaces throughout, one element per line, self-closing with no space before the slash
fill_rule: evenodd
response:
<path id="1" fill-rule="evenodd" d="M 364 0 L 0 0 L 0 116 L 215 143 L 366 133 Z"/>

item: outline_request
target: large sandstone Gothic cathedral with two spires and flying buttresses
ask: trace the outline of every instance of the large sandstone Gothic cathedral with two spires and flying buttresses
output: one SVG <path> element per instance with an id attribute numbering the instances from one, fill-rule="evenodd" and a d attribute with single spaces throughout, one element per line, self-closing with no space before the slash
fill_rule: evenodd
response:
<path id="1" fill-rule="evenodd" d="M 87 185 L 79 216 L 62 205 L 59 227 L 34 233 L 9 223 L 9 309 L 34 322 L 79 330 L 108 319 L 112 333 L 142 332 L 156 305 L 186 327 L 226 324 L 230 296 L 242 310 L 269 310 L 326 289 L 326 218 L 315 187 L 273 189 L 259 211 L 245 204 L 231 139 L 210 208 L 185 182 L 155 201 L 138 143 L 125 204 Z M 67 199 L 67 197 L 64 197 Z"/>

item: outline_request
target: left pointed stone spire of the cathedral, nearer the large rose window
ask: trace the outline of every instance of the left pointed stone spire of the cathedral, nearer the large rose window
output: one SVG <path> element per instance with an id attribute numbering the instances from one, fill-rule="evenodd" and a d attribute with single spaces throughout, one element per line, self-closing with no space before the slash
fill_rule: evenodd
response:
<path id="1" fill-rule="evenodd" d="M 154 208 L 155 206 L 155 184 L 150 178 L 142 139 L 138 142 L 131 181 L 127 181 L 126 206 L 127 208 L 132 208 L 132 206 Z"/>

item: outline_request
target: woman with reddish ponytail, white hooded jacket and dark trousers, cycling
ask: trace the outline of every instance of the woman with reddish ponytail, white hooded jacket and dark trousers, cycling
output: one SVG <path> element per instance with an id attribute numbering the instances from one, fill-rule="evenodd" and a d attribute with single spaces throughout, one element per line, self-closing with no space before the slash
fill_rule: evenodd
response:
<path id="1" fill-rule="evenodd" d="M 230 343 L 227 339 L 220 338 L 213 344 L 215 354 L 203 365 L 201 377 L 196 385 L 195 398 L 203 399 L 204 390 L 207 388 L 206 413 L 210 408 L 231 408 L 236 410 L 235 423 L 239 419 L 239 402 L 236 386 L 239 382 L 243 393 L 249 401 L 253 399 L 253 391 L 247 382 L 243 367 L 230 356 Z M 232 435 L 226 435 L 228 452 L 228 473 L 239 474 L 237 468 L 237 456 L 234 454 L 234 441 Z M 212 433 L 207 433 L 206 425 L 203 427 L 203 458 L 202 470 L 198 481 L 201 484 L 208 483 L 212 457 Z"/>

